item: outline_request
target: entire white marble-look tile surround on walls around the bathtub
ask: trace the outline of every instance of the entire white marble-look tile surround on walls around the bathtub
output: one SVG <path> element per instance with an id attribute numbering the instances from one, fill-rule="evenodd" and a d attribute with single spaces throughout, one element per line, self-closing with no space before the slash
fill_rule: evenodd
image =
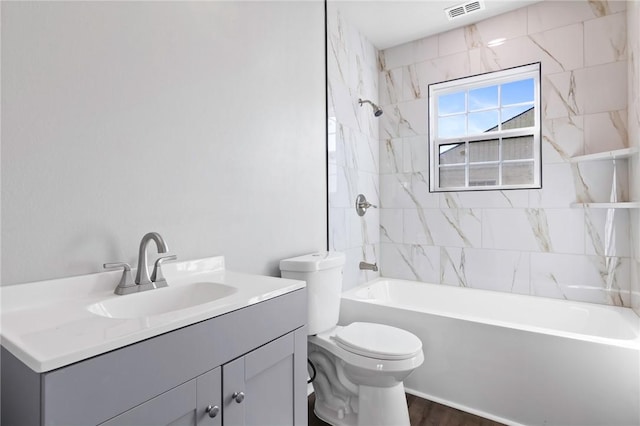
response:
<path id="1" fill-rule="evenodd" d="M 369 81 L 370 44 L 329 5 L 329 120 L 350 138 L 329 141 L 330 247 L 347 253 L 345 288 L 372 278 L 352 270 L 366 254 L 383 276 L 633 305 L 640 312 L 639 213 L 571 208 L 609 201 L 613 164 L 568 161 L 638 145 L 637 2 L 543 1 L 377 52 L 377 81 Z M 505 43 L 486 47 L 498 37 Z M 543 189 L 429 193 L 428 84 L 537 61 Z M 377 121 L 357 109 L 357 98 L 376 84 L 372 100 L 384 110 Z M 379 162 L 371 164 L 376 132 Z M 354 147 L 357 138 L 365 143 Z M 618 199 L 640 200 L 638 163 L 637 156 L 630 167 L 619 162 Z M 359 192 L 378 198 L 381 208 L 358 227 L 350 207 Z M 607 214 L 615 239 L 609 248 Z M 378 220 L 376 237 L 371 227 Z"/>

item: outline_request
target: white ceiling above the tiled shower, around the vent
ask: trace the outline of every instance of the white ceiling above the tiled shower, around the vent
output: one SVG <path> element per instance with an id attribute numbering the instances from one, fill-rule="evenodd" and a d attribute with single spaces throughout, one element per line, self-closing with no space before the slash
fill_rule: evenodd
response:
<path id="1" fill-rule="evenodd" d="M 330 0 L 378 49 L 482 21 L 540 0 L 484 0 L 484 10 L 449 21 L 444 10 L 466 0 Z"/>

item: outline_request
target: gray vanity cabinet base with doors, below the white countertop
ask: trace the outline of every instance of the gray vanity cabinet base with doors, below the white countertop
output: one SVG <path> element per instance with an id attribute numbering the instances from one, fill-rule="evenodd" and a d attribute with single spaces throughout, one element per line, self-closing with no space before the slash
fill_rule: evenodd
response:
<path id="1" fill-rule="evenodd" d="M 2 425 L 306 425 L 306 303 L 292 291 L 46 373 L 3 348 Z"/>

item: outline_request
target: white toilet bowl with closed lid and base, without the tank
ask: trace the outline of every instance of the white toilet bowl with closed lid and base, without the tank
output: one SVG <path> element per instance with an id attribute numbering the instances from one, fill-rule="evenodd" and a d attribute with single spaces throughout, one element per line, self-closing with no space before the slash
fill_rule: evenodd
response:
<path id="1" fill-rule="evenodd" d="M 409 425 L 402 382 L 424 361 L 416 336 L 356 322 L 309 336 L 308 357 L 317 417 L 332 425 Z"/>

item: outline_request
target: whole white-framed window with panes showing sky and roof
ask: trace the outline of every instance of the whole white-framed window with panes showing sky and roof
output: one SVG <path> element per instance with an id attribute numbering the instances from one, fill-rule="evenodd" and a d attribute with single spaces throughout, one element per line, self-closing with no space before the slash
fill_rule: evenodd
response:
<path id="1" fill-rule="evenodd" d="M 541 187 L 540 64 L 429 85 L 430 190 Z"/>

